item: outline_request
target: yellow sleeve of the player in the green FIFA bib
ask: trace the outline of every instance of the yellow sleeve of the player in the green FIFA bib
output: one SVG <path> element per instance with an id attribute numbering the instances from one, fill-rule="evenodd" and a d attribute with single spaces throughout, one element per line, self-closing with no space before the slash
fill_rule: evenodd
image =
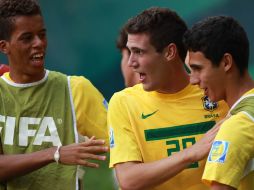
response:
<path id="1" fill-rule="evenodd" d="M 107 101 L 84 77 L 72 76 L 70 83 L 79 134 L 104 139 L 108 144 Z"/>

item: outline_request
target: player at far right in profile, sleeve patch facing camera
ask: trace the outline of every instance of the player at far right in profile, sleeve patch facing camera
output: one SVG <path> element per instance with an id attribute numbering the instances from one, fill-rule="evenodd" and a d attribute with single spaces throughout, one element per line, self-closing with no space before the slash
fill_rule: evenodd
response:
<path id="1" fill-rule="evenodd" d="M 229 118 L 213 142 L 203 180 L 212 190 L 254 189 L 254 81 L 248 73 L 249 41 L 232 17 L 195 24 L 184 37 L 191 83 L 213 101 L 225 100 Z"/>

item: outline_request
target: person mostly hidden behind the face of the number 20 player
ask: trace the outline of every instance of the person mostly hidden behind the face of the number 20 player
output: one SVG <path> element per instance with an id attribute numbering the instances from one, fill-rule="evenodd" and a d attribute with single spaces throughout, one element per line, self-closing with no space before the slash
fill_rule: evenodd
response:
<path id="1" fill-rule="evenodd" d="M 119 36 L 116 41 L 116 47 L 121 51 L 121 71 L 124 78 L 124 84 L 126 87 L 132 87 L 139 83 L 139 75 L 135 73 L 132 68 L 128 65 L 130 58 L 130 51 L 126 47 L 128 35 L 124 29 L 124 26 L 119 32 Z"/>

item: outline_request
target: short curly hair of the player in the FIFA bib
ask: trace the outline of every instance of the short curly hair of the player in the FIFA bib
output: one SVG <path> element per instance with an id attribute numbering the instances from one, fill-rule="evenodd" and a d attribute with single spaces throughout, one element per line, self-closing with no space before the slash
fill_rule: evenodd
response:
<path id="1" fill-rule="evenodd" d="M 36 0 L 0 0 L 0 40 L 9 40 L 16 16 L 41 15 Z"/>

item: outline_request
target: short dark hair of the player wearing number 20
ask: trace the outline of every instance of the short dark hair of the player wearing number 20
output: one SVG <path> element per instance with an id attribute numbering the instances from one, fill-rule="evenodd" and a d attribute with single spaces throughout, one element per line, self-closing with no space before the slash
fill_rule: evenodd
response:
<path id="1" fill-rule="evenodd" d="M 170 43 L 174 43 L 182 60 L 186 56 L 186 49 L 182 42 L 186 30 L 185 22 L 175 11 L 160 7 L 144 10 L 128 20 L 126 24 L 128 34 L 148 34 L 157 52 L 162 52 Z"/>

